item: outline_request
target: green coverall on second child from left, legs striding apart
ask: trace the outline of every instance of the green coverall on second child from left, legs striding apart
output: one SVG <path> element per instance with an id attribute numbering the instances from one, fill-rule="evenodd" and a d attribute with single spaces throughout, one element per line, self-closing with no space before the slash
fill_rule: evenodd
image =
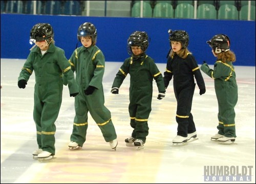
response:
<path id="1" fill-rule="evenodd" d="M 102 51 L 96 45 L 89 48 L 80 46 L 74 50 L 69 62 L 72 70 L 76 72 L 76 82 L 79 87 L 79 94 L 75 97 L 76 115 L 70 140 L 81 147 L 86 141 L 88 111 L 99 126 L 105 141 L 116 139 L 111 112 L 104 106 L 102 79 L 105 58 Z M 96 88 L 91 95 L 84 94 L 88 86 Z"/>

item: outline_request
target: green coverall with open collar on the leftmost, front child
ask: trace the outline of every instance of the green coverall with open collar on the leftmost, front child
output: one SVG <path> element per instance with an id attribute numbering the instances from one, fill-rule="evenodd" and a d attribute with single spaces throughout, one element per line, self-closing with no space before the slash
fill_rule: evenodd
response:
<path id="1" fill-rule="evenodd" d="M 38 148 L 54 155 L 56 131 L 54 123 L 62 101 L 62 74 L 68 83 L 70 94 L 77 93 L 78 87 L 64 50 L 53 43 L 49 45 L 44 56 L 37 46 L 30 51 L 18 81 L 28 81 L 33 70 L 35 71 L 33 117 L 36 124 L 37 144 Z"/>

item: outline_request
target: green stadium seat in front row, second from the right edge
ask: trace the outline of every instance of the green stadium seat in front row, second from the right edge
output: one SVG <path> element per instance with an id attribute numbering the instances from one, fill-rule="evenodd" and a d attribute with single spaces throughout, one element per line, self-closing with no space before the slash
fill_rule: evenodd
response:
<path id="1" fill-rule="evenodd" d="M 234 5 L 222 5 L 218 10 L 218 19 L 238 20 L 238 10 Z"/>

